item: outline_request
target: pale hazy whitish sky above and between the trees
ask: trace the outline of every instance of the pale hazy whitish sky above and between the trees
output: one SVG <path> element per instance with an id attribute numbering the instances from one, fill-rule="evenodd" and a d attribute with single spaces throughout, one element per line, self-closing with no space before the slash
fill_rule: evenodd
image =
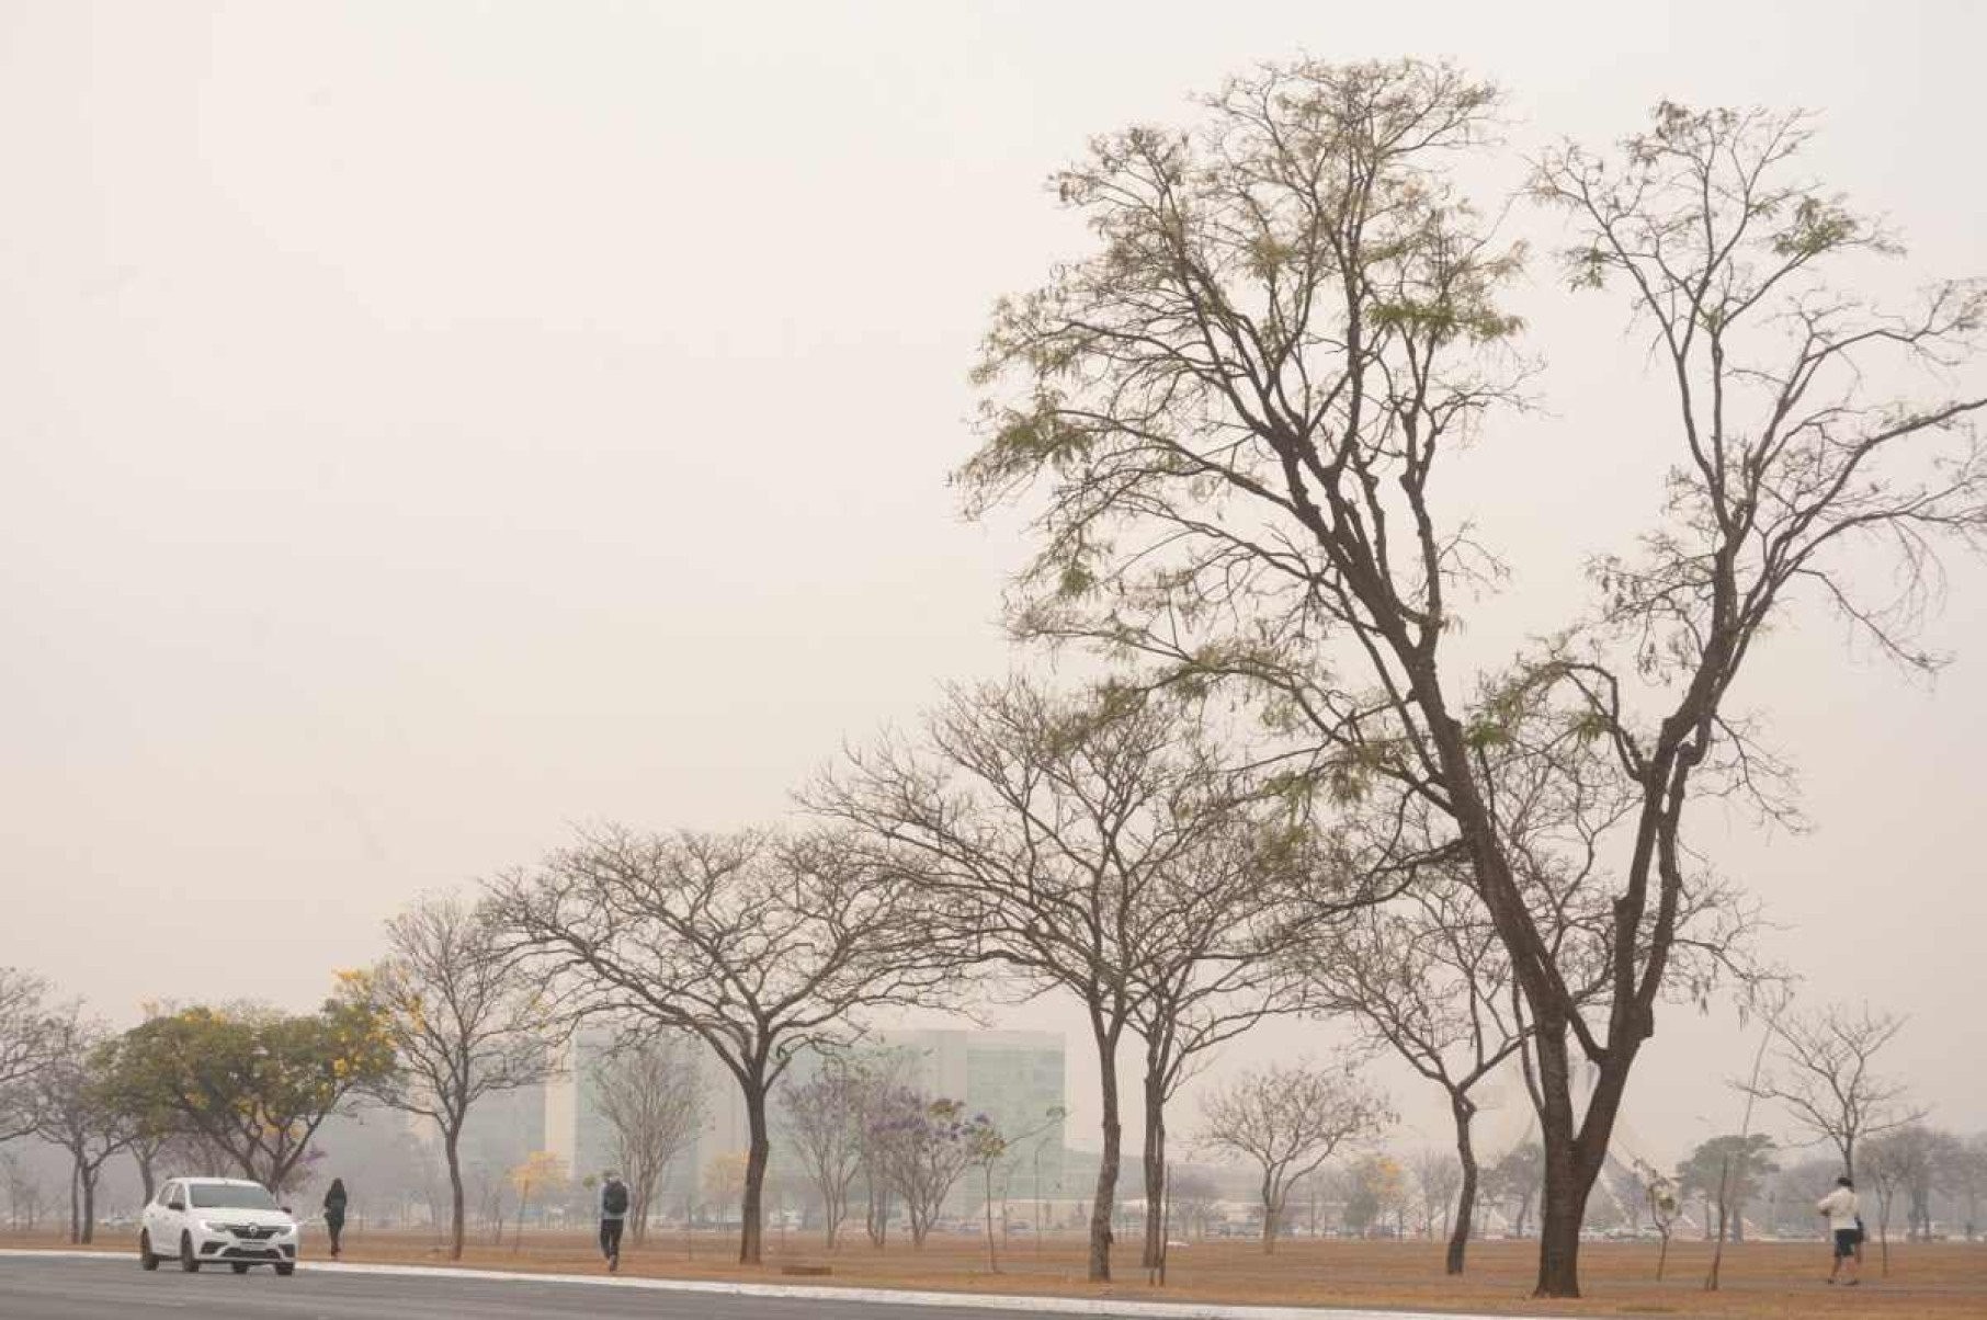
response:
<path id="1" fill-rule="evenodd" d="M 1987 274 L 1981 14 L 8 4 L 0 964 L 119 1022 L 308 1006 L 421 889 L 580 821 L 775 819 L 841 740 L 1001 672 L 1023 543 L 944 477 L 992 300 L 1079 250 L 1041 181 L 1091 133 L 1299 52 L 1500 80 L 1486 189 L 1659 97 L 1808 105 L 1816 173 L 1906 231 L 1906 288 Z M 1520 571 L 1470 620 L 1486 654 L 1552 626 L 1665 457 L 1621 304 L 1544 262 L 1522 296 L 1546 412 L 1458 495 Z M 1822 614 L 1776 634 L 1741 704 L 1818 829 L 1697 831 L 1810 996 L 1913 1016 L 1890 1064 L 1953 1127 L 1987 1125 L 1983 580 L 1953 563 L 1929 692 Z M 1069 1026 L 1091 1121 L 1075 1020 L 1015 1022 Z M 1272 1044 L 1323 1048 L 1234 1058 Z M 1671 1010 L 1631 1127 L 1733 1127 L 1715 1081 L 1749 1052 Z"/>

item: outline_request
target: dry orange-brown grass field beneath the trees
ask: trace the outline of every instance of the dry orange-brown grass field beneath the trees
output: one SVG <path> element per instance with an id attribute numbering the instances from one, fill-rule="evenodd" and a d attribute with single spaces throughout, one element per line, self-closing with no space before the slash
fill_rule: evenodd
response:
<path id="1" fill-rule="evenodd" d="M 129 1250 L 127 1233 L 103 1231 L 101 1250 Z M 0 1235 L 6 1246 L 58 1246 L 52 1235 L 32 1238 Z M 892 1244 L 872 1250 L 866 1240 L 837 1252 L 821 1250 L 813 1235 L 773 1233 L 767 1264 L 745 1270 L 731 1262 L 735 1242 L 715 1235 L 652 1235 L 628 1246 L 622 1270 L 674 1278 L 753 1278 L 934 1288 L 962 1292 L 1059 1292 L 1152 1300 L 1282 1302 L 1311 1306 L 1395 1306 L 1413 1310 L 1482 1310 L 1492 1314 L 1566 1316 L 1703 1316 L 1717 1320 L 1800 1320 L 1806 1316 L 1878 1316 L 1890 1320 L 1987 1318 L 1987 1244 L 1894 1244 L 1890 1276 L 1870 1252 L 1860 1288 L 1822 1284 L 1826 1246 L 1814 1242 L 1747 1242 L 1725 1252 L 1725 1286 L 1703 1290 L 1709 1248 L 1675 1242 L 1665 1280 L 1655 1282 L 1655 1244 L 1590 1242 L 1582 1250 L 1588 1298 L 1534 1302 L 1526 1296 L 1536 1260 L 1534 1242 L 1476 1242 L 1462 1280 L 1443 1276 L 1435 1242 L 1311 1242 L 1294 1240 L 1264 1256 L 1254 1242 L 1194 1242 L 1172 1252 L 1168 1282 L 1152 1286 L 1139 1268 L 1137 1248 L 1121 1246 L 1119 1280 L 1093 1286 L 1083 1280 L 1081 1242 L 1049 1238 L 1039 1250 L 1015 1238 L 1001 1252 L 999 1274 L 988 1272 L 986 1244 L 976 1238 L 938 1238 L 926 1250 Z M 366 1262 L 445 1264 L 427 1233 L 360 1231 L 346 1235 L 346 1258 Z M 588 1237 L 527 1233 L 521 1250 L 509 1242 L 473 1242 L 463 1264 L 527 1272 L 600 1272 Z M 825 1280 L 783 1274 L 783 1266 L 829 1266 Z M 133 1266 L 135 1268 L 135 1266 Z"/>

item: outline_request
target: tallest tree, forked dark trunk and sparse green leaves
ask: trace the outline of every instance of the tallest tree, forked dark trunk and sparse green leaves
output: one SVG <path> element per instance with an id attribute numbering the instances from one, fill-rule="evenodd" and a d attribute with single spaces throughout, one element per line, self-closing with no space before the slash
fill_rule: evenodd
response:
<path id="1" fill-rule="evenodd" d="M 1729 712 L 1755 642 L 1808 596 L 1929 664 L 1917 588 L 1943 537 L 1983 525 L 1967 421 L 1987 400 L 1882 390 L 1971 354 L 1983 296 L 1943 284 L 1892 316 L 1828 292 L 1836 258 L 1890 243 L 1794 173 L 1798 117 L 1663 105 L 1609 159 L 1550 151 L 1534 195 L 1576 229 L 1574 280 L 1623 290 L 1649 330 L 1677 459 L 1637 551 L 1594 563 L 1596 608 L 1472 674 L 1456 624 L 1498 563 L 1447 471 L 1526 374 L 1502 304 L 1520 250 L 1452 183 L 1494 107 L 1447 66 L 1303 62 L 1232 80 L 1186 131 L 1099 137 L 1057 175 L 1095 247 L 995 312 L 962 483 L 974 511 L 1047 487 L 1019 632 L 1246 680 L 1327 783 L 1447 821 L 1532 1020 L 1536 1292 L 1578 1296 L 1586 1199 L 1703 879 L 1687 807 L 1780 787 Z M 1902 567 L 1902 598 L 1858 590 L 1868 557 Z M 1604 749 L 1633 797 L 1594 877 L 1588 998 L 1480 755 L 1516 714 Z"/>

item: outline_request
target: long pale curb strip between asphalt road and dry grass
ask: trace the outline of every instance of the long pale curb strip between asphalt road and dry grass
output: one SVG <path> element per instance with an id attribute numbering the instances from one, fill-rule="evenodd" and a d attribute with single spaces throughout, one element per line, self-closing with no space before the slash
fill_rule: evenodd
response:
<path id="1" fill-rule="evenodd" d="M 125 1260 L 105 1250 L 6 1250 L 6 1258 L 85 1258 Z M 870 1306 L 966 1306 L 1037 1316 L 1145 1316 L 1148 1320 L 1548 1320 L 1546 1316 L 1470 1316 L 1433 1310 L 1361 1310 L 1345 1306 L 1224 1306 L 1216 1302 L 1137 1302 L 1087 1296 L 1017 1296 L 1009 1292 L 928 1292 L 902 1288 L 842 1288 L 837 1284 L 755 1284 L 715 1278 L 632 1278 L 626 1274 L 523 1274 L 517 1270 L 471 1270 L 449 1264 L 332 1264 L 300 1260 L 300 1272 L 382 1274 L 397 1278 L 463 1278 L 521 1284 L 580 1284 L 590 1288 L 632 1288 L 638 1292 L 699 1292 L 783 1300 L 864 1302 Z"/>

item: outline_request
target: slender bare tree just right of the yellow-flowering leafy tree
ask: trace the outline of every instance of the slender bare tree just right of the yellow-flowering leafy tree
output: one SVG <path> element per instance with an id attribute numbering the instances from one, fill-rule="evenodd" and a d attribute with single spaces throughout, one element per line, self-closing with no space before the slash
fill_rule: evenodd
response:
<path id="1" fill-rule="evenodd" d="M 550 1075 L 556 1016 L 485 907 L 429 895 L 387 920 L 387 954 L 346 976 L 393 1048 L 395 1068 L 370 1091 L 429 1119 L 449 1167 L 449 1258 L 463 1254 L 463 1125 L 477 1101 Z"/>

